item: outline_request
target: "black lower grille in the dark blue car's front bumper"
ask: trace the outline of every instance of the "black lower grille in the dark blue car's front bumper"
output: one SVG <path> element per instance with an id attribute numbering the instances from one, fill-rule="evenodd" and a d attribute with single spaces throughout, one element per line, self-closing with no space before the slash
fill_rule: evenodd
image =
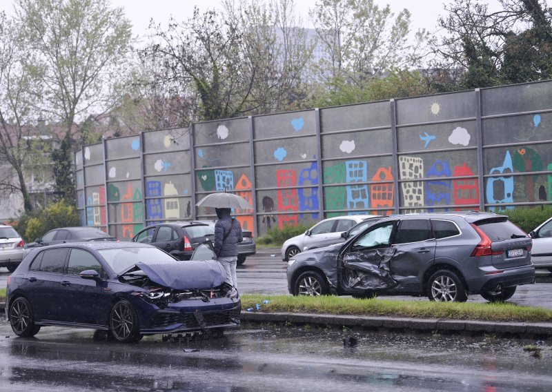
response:
<path id="1" fill-rule="evenodd" d="M 217 326 L 226 324 L 235 324 L 233 320 L 239 320 L 239 309 L 231 311 L 215 311 L 201 313 L 206 326 Z M 199 323 L 193 313 L 168 313 L 159 312 L 155 315 L 152 322 L 152 328 L 166 328 L 173 324 L 184 324 L 189 329 L 200 329 Z"/>

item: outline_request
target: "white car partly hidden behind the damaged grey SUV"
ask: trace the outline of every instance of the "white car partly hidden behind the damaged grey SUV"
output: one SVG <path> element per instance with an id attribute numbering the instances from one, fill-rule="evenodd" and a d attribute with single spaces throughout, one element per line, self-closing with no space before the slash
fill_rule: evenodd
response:
<path id="1" fill-rule="evenodd" d="M 287 239 L 282 244 L 282 260 L 287 262 L 290 257 L 308 249 L 322 248 L 331 244 L 344 242 L 342 233 L 355 226 L 355 224 L 379 215 L 344 215 L 324 219 L 305 233 Z"/>

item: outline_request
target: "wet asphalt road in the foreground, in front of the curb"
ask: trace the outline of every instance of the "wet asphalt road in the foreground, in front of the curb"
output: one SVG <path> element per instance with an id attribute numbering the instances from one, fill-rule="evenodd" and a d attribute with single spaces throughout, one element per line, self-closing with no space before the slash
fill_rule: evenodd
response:
<path id="1" fill-rule="evenodd" d="M 552 347 L 493 337 L 242 326 L 219 339 L 137 344 L 0 320 L 0 391 L 549 391 Z M 7 337 L 9 336 L 9 337 Z M 344 345 L 353 342 L 356 345 Z M 535 351 L 527 351 L 533 344 Z"/>

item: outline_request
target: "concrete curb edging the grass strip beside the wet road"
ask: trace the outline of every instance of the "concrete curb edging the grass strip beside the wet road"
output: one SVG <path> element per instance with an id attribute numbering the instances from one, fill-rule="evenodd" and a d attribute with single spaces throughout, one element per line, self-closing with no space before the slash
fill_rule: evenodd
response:
<path id="1" fill-rule="evenodd" d="M 508 337 L 538 337 L 552 339 L 552 323 L 484 322 L 472 320 L 417 319 L 408 317 L 370 317 L 354 315 L 317 315 L 310 313 L 262 313 L 242 311 L 244 322 L 283 324 L 314 324 L 346 326 L 376 331 L 413 331 L 426 333 L 483 333 Z"/>

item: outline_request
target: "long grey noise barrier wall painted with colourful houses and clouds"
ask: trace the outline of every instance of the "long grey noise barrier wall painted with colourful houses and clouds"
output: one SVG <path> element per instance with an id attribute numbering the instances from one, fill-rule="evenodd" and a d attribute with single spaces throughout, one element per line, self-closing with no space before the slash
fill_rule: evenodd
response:
<path id="1" fill-rule="evenodd" d="M 148 131 L 76 153 L 77 209 L 130 239 L 216 219 L 194 204 L 225 190 L 256 207 L 233 210 L 255 235 L 334 215 L 552 204 L 551 119 L 542 81 Z"/>

